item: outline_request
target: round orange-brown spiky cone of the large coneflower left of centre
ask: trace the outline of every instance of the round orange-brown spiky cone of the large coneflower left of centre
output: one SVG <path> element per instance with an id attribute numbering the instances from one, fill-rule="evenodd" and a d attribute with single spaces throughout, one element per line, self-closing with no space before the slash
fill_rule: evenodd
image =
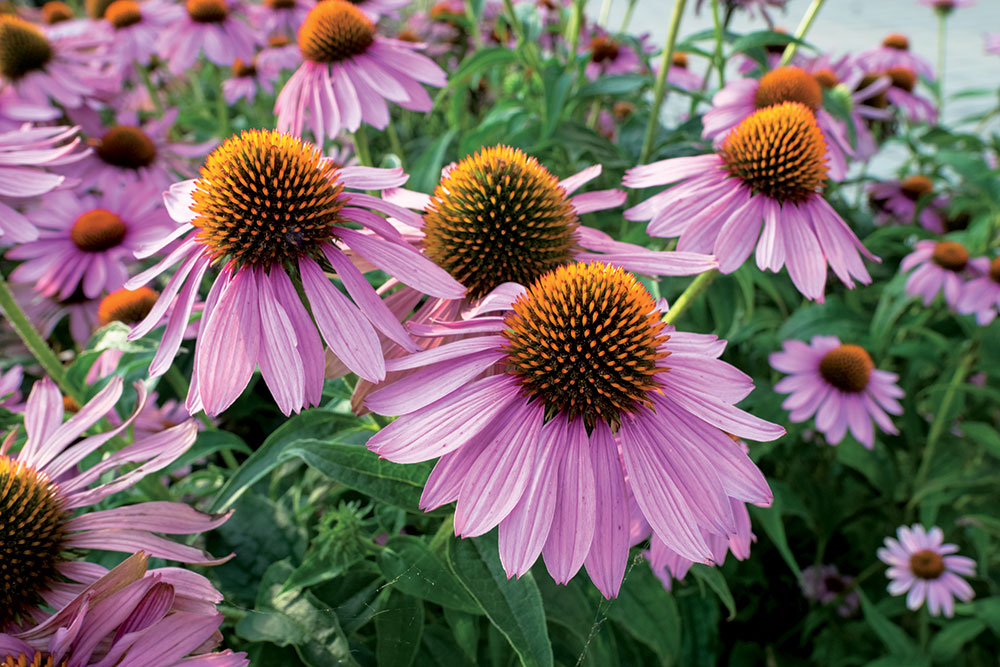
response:
<path id="1" fill-rule="evenodd" d="M 312 144 L 249 130 L 209 154 L 195 181 L 191 224 L 214 259 L 270 268 L 329 243 L 342 190 L 336 167 Z"/>

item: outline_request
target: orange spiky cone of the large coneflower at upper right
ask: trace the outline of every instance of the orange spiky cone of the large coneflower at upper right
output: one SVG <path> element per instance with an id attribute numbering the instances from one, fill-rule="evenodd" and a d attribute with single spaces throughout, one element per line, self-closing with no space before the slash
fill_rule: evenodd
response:
<path id="1" fill-rule="evenodd" d="M 729 173 L 755 194 L 802 202 L 827 178 L 826 141 L 816 118 L 798 102 L 761 109 L 741 122 L 720 149 Z"/>

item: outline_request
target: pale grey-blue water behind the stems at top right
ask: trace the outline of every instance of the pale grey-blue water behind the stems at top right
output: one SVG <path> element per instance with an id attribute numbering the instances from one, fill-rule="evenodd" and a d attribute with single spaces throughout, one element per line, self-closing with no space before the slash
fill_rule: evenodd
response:
<path id="1" fill-rule="evenodd" d="M 613 0 L 608 25 L 621 25 L 626 0 Z M 680 37 L 712 27 L 709 0 L 704 0 L 700 15 L 696 0 L 688 0 Z M 794 32 L 810 0 L 789 0 L 784 10 L 769 9 L 776 26 Z M 596 16 L 601 0 L 590 0 L 588 13 Z M 662 45 L 673 10 L 670 0 L 638 0 L 632 15 L 633 32 L 650 32 L 654 43 Z M 745 11 L 733 15 L 730 28 L 735 32 L 763 30 L 766 23 Z M 910 49 L 937 67 L 937 15 L 917 0 L 827 0 L 820 10 L 807 39 L 818 48 L 835 54 L 856 53 L 877 46 L 890 32 L 902 32 L 910 38 Z M 987 32 L 1000 32 L 1000 0 L 979 0 L 974 6 L 956 9 L 948 18 L 948 52 L 945 66 L 945 92 L 953 94 L 969 88 L 1000 87 L 1000 56 L 988 55 L 983 46 Z M 704 71 L 705 64 L 694 65 Z M 961 117 L 989 108 L 995 98 L 949 100 L 944 119 L 954 122 Z M 993 128 L 997 125 L 992 124 Z"/>

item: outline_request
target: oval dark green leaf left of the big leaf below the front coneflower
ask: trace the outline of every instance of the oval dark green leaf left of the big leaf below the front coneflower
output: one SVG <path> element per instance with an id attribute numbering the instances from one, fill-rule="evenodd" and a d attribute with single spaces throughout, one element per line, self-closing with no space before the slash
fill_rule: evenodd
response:
<path id="1" fill-rule="evenodd" d="M 386 542 L 378 566 L 387 586 L 469 614 L 483 610 L 441 558 L 419 537 L 397 535 Z"/>

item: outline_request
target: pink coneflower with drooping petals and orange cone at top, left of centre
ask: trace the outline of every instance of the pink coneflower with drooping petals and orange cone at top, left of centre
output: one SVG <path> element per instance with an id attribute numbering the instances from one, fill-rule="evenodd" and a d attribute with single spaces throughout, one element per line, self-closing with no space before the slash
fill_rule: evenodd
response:
<path id="1" fill-rule="evenodd" d="M 389 124 L 386 100 L 404 109 L 430 111 L 423 83 L 441 87 L 444 71 L 416 53 L 419 45 L 381 37 L 371 19 L 345 0 L 316 5 L 299 29 L 305 62 L 275 101 L 278 130 L 302 136 L 308 119 L 317 144 L 365 122 Z"/>

